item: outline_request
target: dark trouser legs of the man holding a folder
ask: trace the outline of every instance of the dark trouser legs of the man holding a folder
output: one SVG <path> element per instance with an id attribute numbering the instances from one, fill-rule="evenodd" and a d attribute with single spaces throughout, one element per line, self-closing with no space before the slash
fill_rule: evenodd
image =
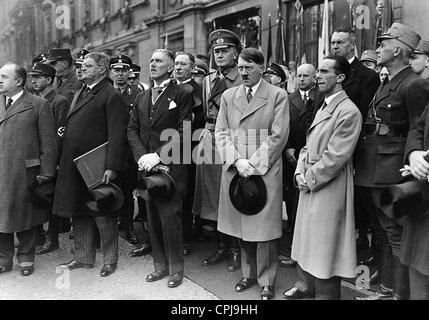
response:
<path id="1" fill-rule="evenodd" d="M 73 228 L 74 259 L 76 261 L 86 264 L 95 263 L 98 230 L 104 264 L 118 262 L 118 223 L 116 217 L 76 217 L 73 218 Z"/>

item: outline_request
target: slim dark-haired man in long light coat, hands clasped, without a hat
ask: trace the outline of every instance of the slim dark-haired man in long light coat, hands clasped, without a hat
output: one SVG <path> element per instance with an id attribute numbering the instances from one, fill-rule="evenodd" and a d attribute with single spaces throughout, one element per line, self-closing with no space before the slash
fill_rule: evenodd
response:
<path id="1" fill-rule="evenodd" d="M 317 71 L 325 102 L 301 150 L 295 179 L 300 190 L 292 242 L 299 280 L 285 299 L 338 300 L 341 277 L 356 276 L 352 155 L 362 116 L 342 84 L 350 76 L 344 57 L 328 56 Z"/>

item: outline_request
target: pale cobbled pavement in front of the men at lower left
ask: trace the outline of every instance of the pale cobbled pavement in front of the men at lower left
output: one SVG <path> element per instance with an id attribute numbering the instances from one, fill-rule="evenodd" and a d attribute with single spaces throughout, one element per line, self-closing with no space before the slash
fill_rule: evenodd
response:
<path id="1" fill-rule="evenodd" d="M 14 265 L 11 272 L 0 274 L 1 300 L 218 300 L 203 287 L 185 277 L 177 288 L 167 287 L 167 278 L 158 282 L 145 281 L 153 271 L 150 255 L 129 258 L 134 246 L 119 238 L 119 262 L 115 273 L 100 277 L 103 266 L 102 255 L 97 251 L 97 262 L 93 269 L 77 269 L 69 272 L 57 268 L 68 262 L 73 243 L 68 234 L 62 234 L 60 249 L 42 256 L 36 256 L 35 272 L 29 277 L 21 276 Z M 58 273 L 57 273 L 58 272 Z M 69 287 L 69 288 L 67 288 Z"/>

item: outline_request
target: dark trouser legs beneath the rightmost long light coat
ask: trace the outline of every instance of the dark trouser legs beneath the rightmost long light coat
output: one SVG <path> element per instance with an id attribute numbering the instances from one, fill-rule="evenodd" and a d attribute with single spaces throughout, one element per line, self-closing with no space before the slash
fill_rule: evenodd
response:
<path id="1" fill-rule="evenodd" d="M 295 284 L 302 292 L 315 295 L 316 300 L 340 300 L 341 299 L 341 278 L 332 277 L 329 279 L 319 279 L 304 271 L 297 265 L 299 280 Z"/>

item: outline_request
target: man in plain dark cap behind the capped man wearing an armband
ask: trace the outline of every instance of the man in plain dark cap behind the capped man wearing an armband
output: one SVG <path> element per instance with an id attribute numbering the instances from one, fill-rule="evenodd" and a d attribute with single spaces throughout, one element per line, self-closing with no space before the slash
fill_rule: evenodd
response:
<path id="1" fill-rule="evenodd" d="M 73 94 L 78 91 L 82 84 L 73 70 L 73 59 L 70 49 L 49 50 L 46 63 L 57 71 L 56 84 L 54 87 L 58 93 L 71 103 Z"/>

